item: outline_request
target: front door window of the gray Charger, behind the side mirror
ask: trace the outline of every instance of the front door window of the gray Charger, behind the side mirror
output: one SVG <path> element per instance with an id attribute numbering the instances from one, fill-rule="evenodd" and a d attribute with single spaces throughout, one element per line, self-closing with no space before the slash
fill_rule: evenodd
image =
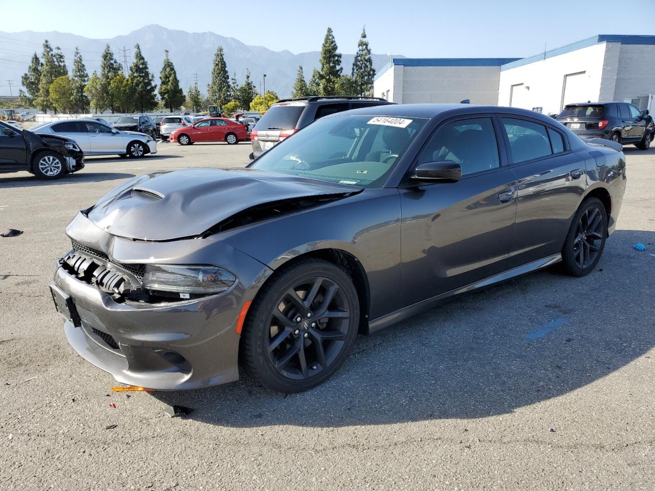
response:
<path id="1" fill-rule="evenodd" d="M 419 164 L 444 160 L 460 164 L 462 175 L 500 167 L 491 118 L 465 119 L 441 126 L 421 151 Z"/>

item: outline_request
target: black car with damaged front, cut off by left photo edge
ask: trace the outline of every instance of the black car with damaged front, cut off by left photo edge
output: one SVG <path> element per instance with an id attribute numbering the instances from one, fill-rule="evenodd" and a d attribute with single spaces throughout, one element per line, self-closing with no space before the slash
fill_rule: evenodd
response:
<path id="1" fill-rule="evenodd" d="M 84 168 L 84 153 L 70 138 L 18 130 L 0 122 L 0 173 L 26 170 L 57 179 Z"/>

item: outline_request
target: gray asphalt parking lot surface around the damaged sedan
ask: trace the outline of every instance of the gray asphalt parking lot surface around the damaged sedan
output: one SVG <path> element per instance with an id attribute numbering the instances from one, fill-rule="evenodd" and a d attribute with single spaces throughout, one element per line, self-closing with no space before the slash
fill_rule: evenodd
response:
<path id="1" fill-rule="evenodd" d="M 24 230 L 0 238 L 0 489 L 654 488 L 655 150 L 626 147 L 618 227 L 585 278 L 544 270 L 360 336 L 306 393 L 247 377 L 112 392 L 48 291 L 65 226 L 128 177 L 244 166 L 250 151 L 160 143 L 60 181 L 0 175 L 0 230 Z"/>

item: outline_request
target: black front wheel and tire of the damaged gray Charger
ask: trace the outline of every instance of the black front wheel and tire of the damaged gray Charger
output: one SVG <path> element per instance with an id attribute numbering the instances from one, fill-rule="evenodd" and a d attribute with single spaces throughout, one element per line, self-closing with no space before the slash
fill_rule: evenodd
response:
<path id="1" fill-rule="evenodd" d="M 320 259 L 297 261 L 276 271 L 253 300 L 242 359 L 271 390 L 309 390 L 343 364 L 359 321 L 357 291 L 344 270 Z"/>

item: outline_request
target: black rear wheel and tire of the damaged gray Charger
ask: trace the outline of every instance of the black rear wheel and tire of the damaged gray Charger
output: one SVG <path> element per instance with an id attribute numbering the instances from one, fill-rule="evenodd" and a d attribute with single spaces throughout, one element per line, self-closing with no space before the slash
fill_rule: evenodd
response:
<path id="1" fill-rule="evenodd" d="M 576 211 L 562 248 L 564 270 L 586 276 L 601 259 L 607 239 L 607 211 L 598 198 L 587 198 Z"/>

